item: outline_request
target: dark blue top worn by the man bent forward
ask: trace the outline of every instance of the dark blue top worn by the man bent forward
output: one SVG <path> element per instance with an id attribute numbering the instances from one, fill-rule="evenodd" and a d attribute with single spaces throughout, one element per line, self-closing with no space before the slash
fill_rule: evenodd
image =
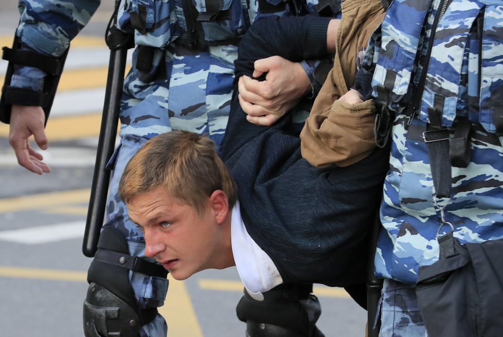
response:
<path id="1" fill-rule="evenodd" d="M 274 55 L 267 55 L 271 39 L 274 50 L 283 51 L 280 56 L 293 61 L 306 57 L 301 39 L 289 36 L 294 30 L 271 28 L 278 22 L 263 20 L 240 43 L 236 78 L 252 76 L 253 61 Z M 300 31 L 313 29 L 305 20 L 294 18 L 292 24 Z M 318 29 L 326 31 L 323 25 Z M 277 38 L 267 36 L 272 31 Z M 319 36 L 320 45 L 326 44 L 323 39 Z M 316 168 L 301 157 L 290 115 L 271 127 L 253 125 L 246 121 L 236 93 L 220 154 L 236 180 L 249 235 L 271 257 L 285 283 L 345 287 L 364 282 L 367 234 L 379 207 L 389 149 L 375 150 L 348 167 Z"/>

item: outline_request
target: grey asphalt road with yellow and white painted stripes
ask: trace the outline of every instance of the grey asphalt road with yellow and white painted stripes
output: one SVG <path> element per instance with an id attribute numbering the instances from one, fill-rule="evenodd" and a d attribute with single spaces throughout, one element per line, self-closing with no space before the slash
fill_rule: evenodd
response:
<path id="1" fill-rule="evenodd" d="M 10 45 L 19 14 L 0 2 L 0 45 Z M 47 125 L 51 173 L 16 164 L 0 125 L 0 336 L 82 337 L 82 302 L 91 259 L 82 254 L 108 51 L 102 41 L 112 1 L 103 1 L 72 43 Z M 0 78 L 6 63 L 0 62 Z M 170 337 L 244 336 L 235 308 L 242 285 L 234 268 L 170 282 L 160 309 Z M 365 335 L 366 312 L 337 288 L 315 287 L 327 337 Z"/>

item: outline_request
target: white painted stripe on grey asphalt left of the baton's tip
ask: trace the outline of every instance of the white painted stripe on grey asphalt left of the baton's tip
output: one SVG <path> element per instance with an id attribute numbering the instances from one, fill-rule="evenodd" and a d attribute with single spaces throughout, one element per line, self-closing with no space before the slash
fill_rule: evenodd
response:
<path id="1" fill-rule="evenodd" d="M 83 237 L 84 228 L 84 221 L 75 221 L 56 225 L 4 230 L 0 231 L 0 240 L 25 244 L 39 244 L 77 239 Z"/>

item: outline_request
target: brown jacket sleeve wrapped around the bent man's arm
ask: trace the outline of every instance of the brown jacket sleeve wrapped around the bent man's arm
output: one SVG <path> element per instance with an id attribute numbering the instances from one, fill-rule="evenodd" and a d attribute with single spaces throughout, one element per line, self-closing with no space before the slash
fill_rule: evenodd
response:
<path id="1" fill-rule="evenodd" d="M 385 11 L 380 0 L 344 0 L 342 11 L 334 67 L 300 134 L 302 156 L 314 166 L 348 166 L 375 147 L 373 101 L 347 104 L 337 99 L 353 85 L 356 54 L 367 46 Z"/>

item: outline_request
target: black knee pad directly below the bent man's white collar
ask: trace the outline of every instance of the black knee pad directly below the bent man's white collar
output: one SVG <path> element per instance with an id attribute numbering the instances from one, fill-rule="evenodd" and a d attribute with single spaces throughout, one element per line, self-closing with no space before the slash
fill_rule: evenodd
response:
<path id="1" fill-rule="evenodd" d="M 247 336 L 322 337 L 315 326 L 321 306 L 312 289 L 312 285 L 281 285 L 263 293 L 262 301 L 245 291 L 236 312 L 246 322 Z"/>

